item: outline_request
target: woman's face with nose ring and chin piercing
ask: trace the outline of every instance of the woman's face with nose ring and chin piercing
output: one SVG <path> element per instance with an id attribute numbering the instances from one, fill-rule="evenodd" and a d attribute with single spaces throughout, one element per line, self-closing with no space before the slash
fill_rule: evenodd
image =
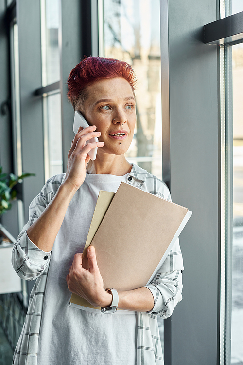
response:
<path id="1" fill-rule="evenodd" d="M 128 81 L 111 78 L 87 87 L 87 99 L 82 111 L 88 124 L 101 132 L 104 147 L 98 154 L 124 154 L 133 139 L 136 124 L 135 97 Z"/>

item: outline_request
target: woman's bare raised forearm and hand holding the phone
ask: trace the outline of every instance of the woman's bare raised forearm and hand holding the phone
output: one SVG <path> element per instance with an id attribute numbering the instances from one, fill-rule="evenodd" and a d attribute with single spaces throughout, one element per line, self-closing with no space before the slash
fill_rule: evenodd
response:
<path id="1" fill-rule="evenodd" d="M 35 217 L 35 222 L 27 230 L 30 240 L 44 252 L 52 250 L 69 203 L 85 180 L 86 165 L 90 160 L 87 153 L 91 148 L 104 146 L 103 142 L 92 142 L 85 145 L 90 138 L 101 135 L 100 132 L 95 132 L 95 129 L 96 126 L 79 128 L 68 154 L 68 167 L 64 182 L 59 186 L 51 202 L 37 219 Z"/>

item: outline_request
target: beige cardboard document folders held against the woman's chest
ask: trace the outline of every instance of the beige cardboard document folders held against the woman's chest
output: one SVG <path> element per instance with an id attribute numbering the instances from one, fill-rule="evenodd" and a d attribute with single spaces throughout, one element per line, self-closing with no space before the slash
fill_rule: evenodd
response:
<path id="1" fill-rule="evenodd" d="M 83 257 L 92 244 L 104 288 L 147 285 L 163 264 L 192 212 L 121 182 L 116 193 L 100 191 Z M 100 311 L 72 294 L 70 306 Z"/>

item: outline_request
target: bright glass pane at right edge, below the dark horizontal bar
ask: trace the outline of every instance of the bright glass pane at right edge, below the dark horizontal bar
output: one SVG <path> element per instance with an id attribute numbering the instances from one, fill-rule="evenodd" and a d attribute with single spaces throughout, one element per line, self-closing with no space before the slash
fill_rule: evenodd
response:
<path id="1" fill-rule="evenodd" d="M 233 1 L 232 1 L 233 2 Z M 243 364 L 243 44 L 233 49 L 233 247 L 231 364 Z"/>

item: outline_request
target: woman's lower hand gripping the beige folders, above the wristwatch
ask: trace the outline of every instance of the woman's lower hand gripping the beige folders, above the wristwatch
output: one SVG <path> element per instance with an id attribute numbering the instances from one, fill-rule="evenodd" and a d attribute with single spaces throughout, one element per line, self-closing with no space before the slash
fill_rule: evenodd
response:
<path id="1" fill-rule="evenodd" d="M 104 283 L 93 246 L 89 246 L 87 258 L 89 269 L 84 269 L 82 266 L 82 253 L 77 253 L 74 256 L 66 278 L 68 288 L 72 293 L 86 299 L 95 307 L 109 306 L 112 302 L 112 295 L 104 290 Z"/>

